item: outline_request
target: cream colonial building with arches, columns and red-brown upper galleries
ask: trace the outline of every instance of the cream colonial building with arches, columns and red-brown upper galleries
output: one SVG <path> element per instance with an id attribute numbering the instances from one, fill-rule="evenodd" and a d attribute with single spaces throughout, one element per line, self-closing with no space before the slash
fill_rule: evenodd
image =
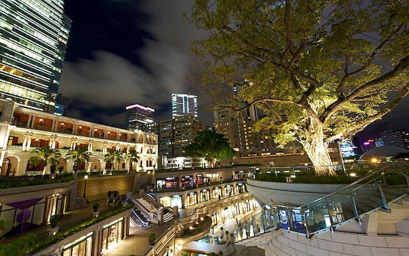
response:
<path id="1" fill-rule="evenodd" d="M 104 161 L 110 149 L 128 152 L 131 148 L 139 154 L 140 160 L 132 165 L 133 170 L 150 170 L 157 166 L 157 135 L 132 132 L 116 127 L 57 116 L 18 106 L 10 100 L 0 100 L 0 162 L 1 175 L 20 176 L 37 174 L 32 166 L 31 151 L 36 147 L 50 146 L 58 149 L 62 157 L 58 164 L 63 172 L 73 172 L 74 161 L 66 160 L 66 153 L 76 147 L 86 148 L 90 159 L 78 169 L 86 172 L 111 168 Z M 114 169 L 129 169 L 129 163 L 122 161 Z"/>

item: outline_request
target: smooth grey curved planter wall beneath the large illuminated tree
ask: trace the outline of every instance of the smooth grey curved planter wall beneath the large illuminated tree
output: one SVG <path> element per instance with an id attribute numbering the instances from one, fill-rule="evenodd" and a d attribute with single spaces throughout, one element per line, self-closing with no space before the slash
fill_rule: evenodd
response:
<path id="1" fill-rule="evenodd" d="M 300 184 L 247 179 L 247 190 L 261 204 L 271 201 L 299 206 L 323 197 L 345 184 Z"/>

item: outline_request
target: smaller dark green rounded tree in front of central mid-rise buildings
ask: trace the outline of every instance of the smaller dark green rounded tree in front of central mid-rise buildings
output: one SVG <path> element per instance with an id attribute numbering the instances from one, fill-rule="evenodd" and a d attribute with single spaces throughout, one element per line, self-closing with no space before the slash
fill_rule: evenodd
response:
<path id="1" fill-rule="evenodd" d="M 228 139 L 222 134 L 209 130 L 198 132 L 193 143 L 185 148 L 185 152 L 189 156 L 205 158 L 212 167 L 215 166 L 216 161 L 233 157 Z"/>

